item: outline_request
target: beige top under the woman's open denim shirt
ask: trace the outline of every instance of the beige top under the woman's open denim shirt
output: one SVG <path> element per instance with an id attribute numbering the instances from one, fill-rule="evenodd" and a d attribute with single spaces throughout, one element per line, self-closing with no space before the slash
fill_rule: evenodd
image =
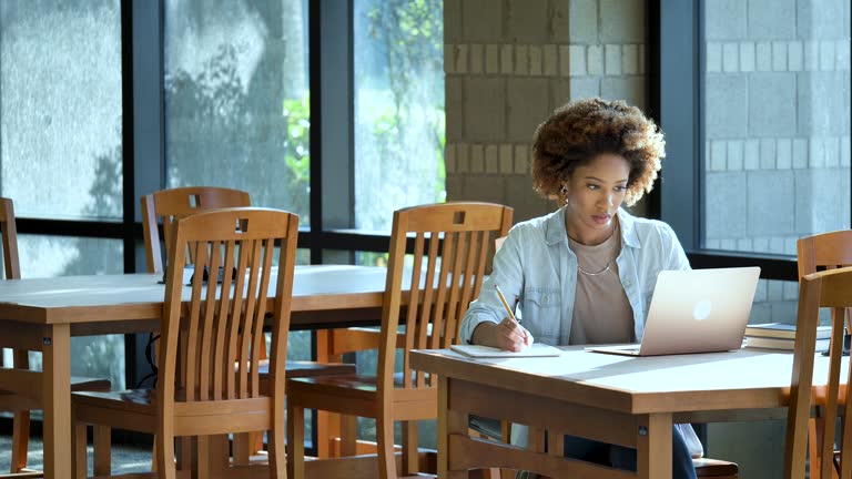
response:
<path id="1" fill-rule="evenodd" d="M 618 276 L 616 257 L 621 252 L 618 230 L 596 246 L 570 237 L 568 245 L 577 255 L 577 292 L 574 299 L 572 345 L 632 343 L 633 309 Z"/>

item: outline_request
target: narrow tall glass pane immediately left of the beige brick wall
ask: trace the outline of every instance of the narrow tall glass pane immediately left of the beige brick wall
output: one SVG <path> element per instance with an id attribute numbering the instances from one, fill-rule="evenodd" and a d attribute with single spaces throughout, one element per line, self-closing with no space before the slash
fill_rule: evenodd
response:
<path id="1" fill-rule="evenodd" d="M 355 0 L 355 226 L 445 201 L 442 0 Z"/>

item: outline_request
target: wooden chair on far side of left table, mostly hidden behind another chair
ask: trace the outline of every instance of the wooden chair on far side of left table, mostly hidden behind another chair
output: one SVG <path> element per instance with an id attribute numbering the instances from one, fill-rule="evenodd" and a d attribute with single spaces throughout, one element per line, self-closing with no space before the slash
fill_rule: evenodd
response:
<path id="1" fill-rule="evenodd" d="M 251 206 L 248 193 L 240 190 L 231 190 L 216 186 L 186 186 L 170 190 L 161 190 L 146 194 L 141 198 L 142 230 L 145 241 L 145 261 L 149 273 L 163 273 L 162 253 L 160 249 L 160 235 L 158 222 L 163 223 L 166 255 L 169 254 L 170 238 L 174 233 L 175 222 L 180 218 L 207 211 Z M 187 256 L 191 259 L 192 252 Z M 266 386 L 268 374 L 268 360 L 266 350 L 261 353 L 261 388 Z M 314 361 L 288 361 L 287 377 L 312 377 L 335 374 L 353 374 L 355 365 L 342 363 L 320 364 Z M 237 444 L 234 447 L 234 456 L 245 463 L 250 456 L 263 449 L 263 436 L 254 435 L 252 438 L 234 436 Z M 247 446 L 243 446 L 248 441 Z"/>

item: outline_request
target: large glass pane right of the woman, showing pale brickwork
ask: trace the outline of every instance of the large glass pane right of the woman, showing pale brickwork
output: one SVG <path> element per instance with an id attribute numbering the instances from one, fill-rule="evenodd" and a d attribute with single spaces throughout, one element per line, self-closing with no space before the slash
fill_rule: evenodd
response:
<path id="1" fill-rule="evenodd" d="M 704 4 L 703 246 L 850 227 L 850 3 Z"/>

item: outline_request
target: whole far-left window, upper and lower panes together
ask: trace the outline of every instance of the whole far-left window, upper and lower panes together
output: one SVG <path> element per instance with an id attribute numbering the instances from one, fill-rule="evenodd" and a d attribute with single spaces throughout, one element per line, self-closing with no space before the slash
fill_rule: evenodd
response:
<path id="1" fill-rule="evenodd" d="M 0 195 L 16 215 L 120 222 L 121 135 L 119 0 L 0 3 Z M 23 277 L 123 271 L 121 241 L 24 232 Z M 71 349 L 72 374 L 124 386 L 123 336 Z"/>

